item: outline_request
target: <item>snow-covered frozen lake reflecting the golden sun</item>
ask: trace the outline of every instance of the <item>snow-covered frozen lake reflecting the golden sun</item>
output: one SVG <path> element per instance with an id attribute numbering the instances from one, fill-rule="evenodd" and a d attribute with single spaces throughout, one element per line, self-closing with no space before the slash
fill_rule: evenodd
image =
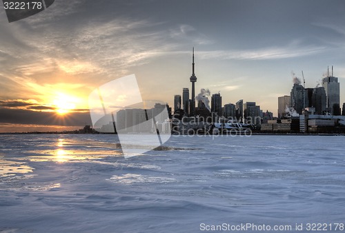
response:
<path id="1" fill-rule="evenodd" d="M 3 134 L 0 232 L 206 232 L 202 224 L 223 223 L 344 232 L 334 229 L 345 223 L 344 142 L 172 136 L 164 150 L 124 159 L 115 135 Z"/>

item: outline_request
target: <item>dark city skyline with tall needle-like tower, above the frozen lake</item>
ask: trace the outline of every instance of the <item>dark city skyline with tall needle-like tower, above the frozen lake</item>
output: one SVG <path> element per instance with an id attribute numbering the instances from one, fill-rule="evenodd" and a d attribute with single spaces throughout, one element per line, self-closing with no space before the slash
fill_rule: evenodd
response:
<path id="1" fill-rule="evenodd" d="M 194 112 L 193 106 L 195 106 L 195 98 L 200 103 L 202 102 L 204 105 L 208 106 L 210 97 L 210 90 L 201 88 L 200 93 L 193 96 L 193 93 L 195 92 L 195 56 L 194 56 L 194 47 L 193 47 L 193 63 L 192 63 L 192 76 L 190 77 L 190 82 L 192 83 L 192 96 L 189 99 L 189 91 L 188 88 L 183 88 L 183 97 L 184 101 L 188 100 L 189 103 L 191 103 L 191 106 L 181 104 L 181 95 L 175 94 L 174 96 L 174 111 L 177 110 L 184 110 L 184 114 L 188 117 L 195 117 L 195 114 L 188 114 L 188 112 Z M 315 88 L 306 88 L 306 80 L 304 79 L 304 73 L 302 70 L 302 80 L 299 79 L 294 72 L 291 72 L 293 76 L 293 88 L 290 92 L 290 95 L 284 95 L 284 97 L 278 97 L 278 108 L 277 108 L 277 115 L 276 118 L 285 118 L 286 116 L 290 115 L 290 117 L 297 117 L 297 115 L 303 114 L 304 110 L 306 108 L 315 108 L 316 113 L 323 115 L 323 114 L 331 114 L 331 115 L 344 115 L 344 106 L 345 103 L 343 103 L 343 109 L 341 108 L 340 103 L 340 88 L 339 88 L 339 82 L 338 78 L 333 76 L 333 65 L 331 67 L 331 72 L 329 71 L 329 67 L 327 68 L 327 72 L 324 73 L 324 77 L 322 80 L 320 80 Z M 193 79 L 193 81 L 192 81 Z M 320 85 L 322 85 L 320 87 Z M 179 97 L 179 101 L 177 101 L 177 97 Z M 215 101 L 215 98 L 217 97 L 217 101 Z M 242 114 L 244 114 L 244 111 L 241 110 L 243 107 L 239 107 L 239 105 L 236 105 L 234 103 L 224 103 L 221 104 L 221 95 L 220 92 L 217 94 L 212 94 L 211 98 L 211 108 L 208 109 L 210 112 L 214 112 L 219 117 L 226 117 L 227 114 L 231 115 L 231 118 L 236 118 L 237 121 L 242 121 Z M 240 99 L 239 101 L 243 102 L 243 99 Z M 236 104 L 239 103 L 237 101 Z M 255 102 L 246 102 L 246 104 L 251 104 Z M 168 104 L 168 103 L 167 103 Z M 215 107 L 217 105 L 217 107 Z M 232 110 L 230 110 L 230 105 L 234 106 L 234 112 L 233 114 L 230 114 Z M 199 104 L 198 104 L 199 107 Z M 194 107 L 195 108 L 195 107 Z M 255 108 L 258 108 L 256 115 L 258 117 L 261 117 L 264 119 L 264 111 L 260 108 L 260 106 L 255 106 Z M 335 109 L 334 109 L 335 108 Z M 339 108 L 339 109 L 338 109 Z M 219 113 L 220 112 L 220 113 Z M 238 112 L 236 114 L 236 112 Z M 253 112 L 253 111 L 252 111 Z M 261 112 L 261 114 L 259 113 Z M 267 114 L 273 114 L 273 112 L 268 112 L 266 110 Z M 292 114 L 292 115 L 291 115 Z M 246 115 L 246 114 L 245 114 Z M 255 114 L 253 114 L 255 115 Z M 253 118 L 253 117 L 252 117 Z M 244 117 L 246 119 L 246 117 Z"/>

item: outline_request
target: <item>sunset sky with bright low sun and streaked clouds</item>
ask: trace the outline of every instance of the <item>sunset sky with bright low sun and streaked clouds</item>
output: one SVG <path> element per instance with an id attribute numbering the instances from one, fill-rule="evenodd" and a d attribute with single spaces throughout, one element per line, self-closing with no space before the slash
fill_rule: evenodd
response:
<path id="1" fill-rule="evenodd" d="M 8 23 L 0 8 L 0 132 L 91 124 L 89 94 L 135 74 L 143 99 L 173 106 L 191 88 L 277 116 L 294 72 L 315 88 L 327 67 L 345 102 L 345 1 L 55 0 Z M 196 93 L 196 94 L 197 94 Z"/>

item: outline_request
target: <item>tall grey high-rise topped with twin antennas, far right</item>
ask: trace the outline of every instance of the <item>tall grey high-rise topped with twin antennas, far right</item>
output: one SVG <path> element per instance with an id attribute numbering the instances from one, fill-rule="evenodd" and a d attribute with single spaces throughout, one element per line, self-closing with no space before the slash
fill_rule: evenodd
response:
<path id="1" fill-rule="evenodd" d="M 327 111 L 331 114 L 335 114 L 339 112 L 340 85 L 338 83 L 338 78 L 333 77 L 333 66 L 332 66 L 332 75 L 322 79 L 322 86 L 324 87 L 326 91 Z"/>

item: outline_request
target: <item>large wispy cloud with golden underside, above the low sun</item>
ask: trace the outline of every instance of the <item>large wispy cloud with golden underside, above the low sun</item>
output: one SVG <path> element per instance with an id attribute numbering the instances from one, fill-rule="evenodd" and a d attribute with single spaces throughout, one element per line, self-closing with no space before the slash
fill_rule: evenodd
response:
<path id="1" fill-rule="evenodd" d="M 39 79 L 35 74 L 57 72 L 97 74 L 105 80 L 121 77 L 128 68 L 175 51 L 177 46 L 166 43 L 167 29 L 157 30 L 159 23 L 148 20 L 95 19 L 71 23 L 66 28 L 41 25 L 39 19 L 30 19 L 29 23 L 39 27 L 28 30 L 26 23 L 19 23 L 8 28 L 18 46 L 0 45 L 0 60 L 6 61 L 1 70 L 6 77 L 30 76 L 32 83 Z"/>

